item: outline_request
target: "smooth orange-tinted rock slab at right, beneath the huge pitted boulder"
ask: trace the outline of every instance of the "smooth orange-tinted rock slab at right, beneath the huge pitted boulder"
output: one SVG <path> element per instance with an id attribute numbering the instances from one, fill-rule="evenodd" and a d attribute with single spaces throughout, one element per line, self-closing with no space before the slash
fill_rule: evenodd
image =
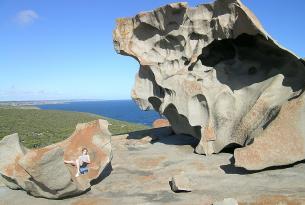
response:
<path id="1" fill-rule="evenodd" d="M 235 165 L 259 170 L 292 164 L 305 156 L 305 96 L 285 103 L 278 116 L 253 142 L 235 149 Z"/>

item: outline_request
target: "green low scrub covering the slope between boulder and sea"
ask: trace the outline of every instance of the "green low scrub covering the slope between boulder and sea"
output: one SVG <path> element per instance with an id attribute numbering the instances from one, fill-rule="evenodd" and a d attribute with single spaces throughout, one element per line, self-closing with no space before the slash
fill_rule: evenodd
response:
<path id="1" fill-rule="evenodd" d="M 18 133 L 28 148 L 43 147 L 69 137 L 77 123 L 106 119 L 113 135 L 147 129 L 144 125 L 81 112 L 0 108 L 0 139 Z"/>

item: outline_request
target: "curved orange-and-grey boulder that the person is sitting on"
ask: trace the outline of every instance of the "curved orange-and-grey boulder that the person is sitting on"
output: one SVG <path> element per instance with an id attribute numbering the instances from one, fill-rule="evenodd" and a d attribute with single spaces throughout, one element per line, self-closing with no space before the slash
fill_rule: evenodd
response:
<path id="1" fill-rule="evenodd" d="M 75 178 L 76 168 L 64 164 L 76 160 L 82 148 L 89 151 L 88 174 Z M 18 134 L 0 141 L 0 176 L 11 189 L 23 189 L 36 197 L 62 198 L 87 191 L 98 180 L 112 158 L 108 122 L 96 120 L 78 124 L 66 140 L 40 149 L 28 150 Z"/>

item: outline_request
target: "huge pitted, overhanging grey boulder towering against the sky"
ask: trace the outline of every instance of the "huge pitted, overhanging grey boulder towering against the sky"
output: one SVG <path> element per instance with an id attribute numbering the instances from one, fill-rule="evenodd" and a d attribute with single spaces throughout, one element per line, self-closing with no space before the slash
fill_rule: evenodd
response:
<path id="1" fill-rule="evenodd" d="M 118 53 L 140 63 L 132 98 L 166 116 L 176 133 L 200 139 L 199 154 L 248 145 L 304 89 L 304 61 L 239 0 L 118 19 L 113 38 Z"/>

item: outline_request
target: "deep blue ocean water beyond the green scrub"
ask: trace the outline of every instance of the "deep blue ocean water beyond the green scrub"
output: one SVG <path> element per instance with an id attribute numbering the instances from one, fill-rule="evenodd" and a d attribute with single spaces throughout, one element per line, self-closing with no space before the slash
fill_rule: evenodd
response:
<path id="1" fill-rule="evenodd" d="M 143 125 L 151 125 L 161 116 L 155 111 L 142 111 L 132 100 L 82 101 L 38 105 L 43 110 L 89 112 L 105 117 Z"/>

